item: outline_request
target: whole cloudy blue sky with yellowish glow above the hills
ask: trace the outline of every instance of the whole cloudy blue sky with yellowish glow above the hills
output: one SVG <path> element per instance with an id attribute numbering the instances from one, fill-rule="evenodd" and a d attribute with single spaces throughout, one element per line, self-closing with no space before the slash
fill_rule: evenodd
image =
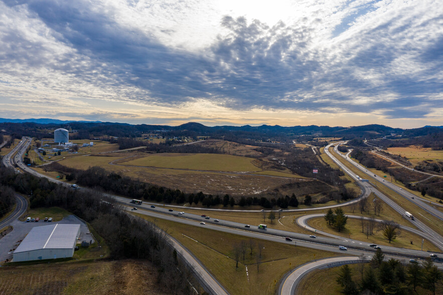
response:
<path id="1" fill-rule="evenodd" d="M 0 0 L 0 117 L 443 125 L 443 5 Z"/>

